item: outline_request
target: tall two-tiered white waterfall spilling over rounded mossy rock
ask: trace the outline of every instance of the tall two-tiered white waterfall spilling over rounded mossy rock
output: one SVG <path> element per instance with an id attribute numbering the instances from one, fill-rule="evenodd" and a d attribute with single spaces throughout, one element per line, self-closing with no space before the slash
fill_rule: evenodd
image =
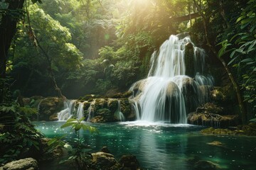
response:
<path id="1" fill-rule="evenodd" d="M 213 86 L 212 77 L 203 76 L 205 52 L 195 47 L 189 36 L 180 36 L 171 35 L 159 52 L 153 53 L 148 77 L 130 88 L 133 96 L 129 99 L 134 103 L 137 120 L 186 123 L 186 112 L 205 102 L 200 86 Z M 189 45 L 193 56 L 186 58 Z M 186 76 L 187 72 L 190 77 Z"/>

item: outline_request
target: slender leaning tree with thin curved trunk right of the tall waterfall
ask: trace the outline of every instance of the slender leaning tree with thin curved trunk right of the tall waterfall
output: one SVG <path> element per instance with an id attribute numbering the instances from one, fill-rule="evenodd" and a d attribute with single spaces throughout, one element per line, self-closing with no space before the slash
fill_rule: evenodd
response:
<path id="1" fill-rule="evenodd" d="M 220 60 L 220 62 L 223 64 L 223 67 L 225 68 L 225 71 L 228 74 L 228 77 L 230 78 L 231 83 L 233 84 L 233 87 L 235 89 L 237 98 L 238 98 L 238 104 L 240 108 L 240 113 L 242 116 L 242 123 L 247 122 L 247 111 L 245 109 L 245 105 L 243 103 L 242 98 L 242 92 L 240 91 L 240 87 L 238 85 L 237 79 L 234 77 L 233 72 L 231 72 L 230 68 L 228 67 L 227 62 L 223 58 L 223 50 L 220 52 L 217 52 L 215 49 L 215 43 L 218 41 L 218 37 L 225 37 L 225 31 L 229 31 L 231 29 L 232 23 L 228 22 L 228 18 L 226 15 L 227 6 L 230 8 L 230 3 L 223 4 L 223 1 L 203 1 L 203 0 L 193 0 L 198 13 L 201 15 L 202 22 L 203 22 L 203 28 L 204 28 L 204 36 L 206 38 L 206 44 L 208 47 L 210 47 L 210 50 L 213 52 L 215 57 Z M 231 8 L 231 10 L 239 10 L 239 7 L 242 6 L 244 1 L 237 1 L 234 3 L 234 8 Z M 237 13 L 237 11 L 235 11 Z M 237 14 L 233 14 L 233 18 L 235 18 Z M 221 21 L 218 20 L 218 18 L 222 18 Z M 234 19 L 230 19 L 232 22 Z M 220 28 L 220 30 L 214 30 L 214 27 L 210 27 L 210 24 L 218 22 L 218 26 L 223 26 Z M 215 23 L 216 24 L 216 23 Z M 211 28 L 211 29 L 210 29 Z M 220 32 L 220 35 L 218 36 L 218 31 Z M 224 33 L 223 33 L 224 32 Z"/>

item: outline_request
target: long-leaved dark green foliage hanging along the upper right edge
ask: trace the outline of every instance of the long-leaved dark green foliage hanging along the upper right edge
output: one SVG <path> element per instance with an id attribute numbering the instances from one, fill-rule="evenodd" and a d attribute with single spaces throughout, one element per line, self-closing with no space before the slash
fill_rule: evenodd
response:
<path id="1" fill-rule="evenodd" d="M 219 57 L 230 54 L 228 65 L 238 69 L 238 79 L 244 91 L 244 99 L 256 110 L 256 1 L 249 1 L 247 7 L 236 20 L 237 33 L 230 40 L 224 40 Z"/>

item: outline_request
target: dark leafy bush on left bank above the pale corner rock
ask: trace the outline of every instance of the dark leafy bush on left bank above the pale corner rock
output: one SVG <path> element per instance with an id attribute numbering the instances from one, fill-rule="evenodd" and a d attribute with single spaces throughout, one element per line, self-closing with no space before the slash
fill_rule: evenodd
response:
<path id="1" fill-rule="evenodd" d="M 0 106 L 0 122 L 3 126 L 0 132 L 0 163 L 10 162 L 24 155 L 31 157 L 29 153 L 33 149 L 33 152 L 40 152 L 40 139 L 43 135 L 33 127 L 26 111 L 31 112 L 16 103 Z"/>

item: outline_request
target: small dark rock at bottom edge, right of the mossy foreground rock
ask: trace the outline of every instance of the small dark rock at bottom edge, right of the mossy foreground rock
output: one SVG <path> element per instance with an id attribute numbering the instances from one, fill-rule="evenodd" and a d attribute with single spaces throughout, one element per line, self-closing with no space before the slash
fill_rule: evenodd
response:
<path id="1" fill-rule="evenodd" d="M 119 164 L 122 165 L 122 169 L 125 170 L 138 170 L 139 162 L 136 157 L 132 154 L 123 155 L 119 160 Z"/>

